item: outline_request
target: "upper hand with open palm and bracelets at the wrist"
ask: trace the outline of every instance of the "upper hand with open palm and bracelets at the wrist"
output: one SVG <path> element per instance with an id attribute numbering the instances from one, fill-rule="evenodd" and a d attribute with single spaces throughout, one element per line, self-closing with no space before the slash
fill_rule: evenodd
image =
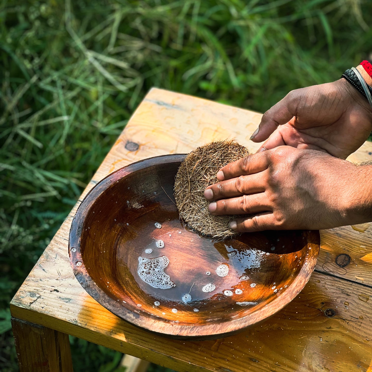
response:
<path id="1" fill-rule="evenodd" d="M 368 101 L 341 78 L 292 90 L 263 114 L 257 130 L 251 140 L 267 140 L 258 152 L 289 145 L 346 158 L 371 133 L 372 112 Z"/>

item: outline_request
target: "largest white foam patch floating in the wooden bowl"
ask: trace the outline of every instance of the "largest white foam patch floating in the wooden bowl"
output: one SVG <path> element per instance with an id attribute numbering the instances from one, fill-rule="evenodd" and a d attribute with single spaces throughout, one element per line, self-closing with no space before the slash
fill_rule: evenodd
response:
<path id="1" fill-rule="evenodd" d="M 175 287 L 176 284 L 170 280 L 169 275 L 164 272 L 164 269 L 169 264 L 167 256 L 146 258 L 138 257 L 138 276 L 153 288 L 169 289 Z"/>

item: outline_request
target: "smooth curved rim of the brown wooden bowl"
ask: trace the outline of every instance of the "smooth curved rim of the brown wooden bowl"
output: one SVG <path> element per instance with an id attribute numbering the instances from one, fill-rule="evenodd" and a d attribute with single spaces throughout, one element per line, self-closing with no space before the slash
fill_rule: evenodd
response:
<path id="1" fill-rule="evenodd" d="M 270 318 L 283 307 L 288 305 L 289 302 L 291 302 L 302 291 L 317 264 L 320 252 L 320 233 L 318 230 L 303 230 L 304 235 L 307 236 L 308 242 L 310 241 L 310 243 L 308 243 L 307 253 L 311 254 L 311 260 L 309 257 L 308 264 L 302 265 L 298 275 L 284 292 L 256 312 L 240 318 L 224 320 L 221 321 L 221 323 L 182 325 L 158 320 L 156 318 L 151 319 L 146 315 L 146 313 L 140 312 L 138 314 L 137 312 L 129 310 L 123 306 L 121 302 L 115 301 L 106 294 L 106 292 L 104 292 L 89 276 L 80 252 L 80 238 L 83 230 L 84 219 L 96 198 L 105 192 L 113 182 L 116 182 L 137 170 L 155 166 L 159 163 L 181 162 L 185 157 L 186 154 L 171 154 L 143 159 L 110 173 L 108 176 L 96 183 L 96 185 L 94 185 L 84 197 L 83 201 L 81 201 L 74 215 L 73 221 L 71 222 L 68 239 L 68 253 L 71 267 L 80 285 L 90 296 L 92 296 L 93 299 L 119 318 L 147 331 L 160 334 L 161 336 L 173 338 L 199 337 L 202 339 L 215 339 L 243 331 L 244 328 L 256 325 Z M 74 248 L 74 251 L 71 251 L 71 248 Z M 80 262 L 79 266 L 76 265 L 77 262 Z"/>

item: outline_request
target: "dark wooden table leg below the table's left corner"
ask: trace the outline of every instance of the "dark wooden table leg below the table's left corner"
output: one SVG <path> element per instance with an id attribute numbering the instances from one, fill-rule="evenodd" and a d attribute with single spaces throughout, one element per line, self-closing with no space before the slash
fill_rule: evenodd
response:
<path id="1" fill-rule="evenodd" d="M 12 318 L 20 372 L 73 372 L 68 335 Z"/>

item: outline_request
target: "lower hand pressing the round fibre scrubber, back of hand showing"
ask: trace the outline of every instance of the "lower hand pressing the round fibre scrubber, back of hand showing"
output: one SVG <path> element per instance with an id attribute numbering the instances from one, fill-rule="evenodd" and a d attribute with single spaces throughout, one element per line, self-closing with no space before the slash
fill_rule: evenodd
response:
<path id="1" fill-rule="evenodd" d="M 222 167 L 204 196 L 236 231 L 318 230 L 372 221 L 371 166 L 280 146 Z"/>

